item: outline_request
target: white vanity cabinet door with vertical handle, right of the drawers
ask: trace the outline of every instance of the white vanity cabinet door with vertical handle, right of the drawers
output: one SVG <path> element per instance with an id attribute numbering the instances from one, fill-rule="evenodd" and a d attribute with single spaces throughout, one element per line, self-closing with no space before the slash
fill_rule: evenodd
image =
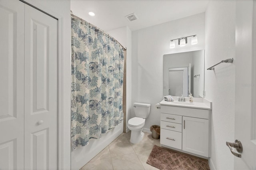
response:
<path id="1" fill-rule="evenodd" d="M 209 121 L 183 117 L 182 150 L 208 157 Z"/>

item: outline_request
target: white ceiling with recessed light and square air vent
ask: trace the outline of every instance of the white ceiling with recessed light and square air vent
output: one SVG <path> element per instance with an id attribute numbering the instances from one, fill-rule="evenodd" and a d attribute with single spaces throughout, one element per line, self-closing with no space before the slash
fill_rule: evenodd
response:
<path id="1" fill-rule="evenodd" d="M 71 0 L 74 15 L 109 31 L 128 26 L 130 30 L 162 24 L 206 11 L 209 0 Z M 95 16 L 89 16 L 88 12 Z M 138 20 L 125 16 L 135 13 Z"/>

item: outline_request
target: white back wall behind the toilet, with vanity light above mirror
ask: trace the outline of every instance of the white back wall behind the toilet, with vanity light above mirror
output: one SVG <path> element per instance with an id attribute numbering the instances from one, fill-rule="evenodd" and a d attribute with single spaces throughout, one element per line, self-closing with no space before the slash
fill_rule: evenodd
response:
<path id="1" fill-rule="evenodd" d="M 160 125 L 160 111 L 154 105 L 163 99 L 163 55 L 204 49 L 205 13 L 166 22 L 132 32 L 132 103 L 150 103 L 144 128 Z M 197 34 L 198 44 L 169 48 L 171 39 Z M 132 109 L 132 117 L 134 117 Z"/>

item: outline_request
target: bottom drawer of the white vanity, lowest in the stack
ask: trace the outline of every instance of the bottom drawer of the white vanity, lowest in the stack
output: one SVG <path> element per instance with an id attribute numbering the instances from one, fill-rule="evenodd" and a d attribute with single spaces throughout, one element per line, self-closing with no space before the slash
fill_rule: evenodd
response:
<path id="1" fill-rule="evenodd" d="M 161 128 L 160 143 L 177 149 L 182 149 L 182 133 Z"/>

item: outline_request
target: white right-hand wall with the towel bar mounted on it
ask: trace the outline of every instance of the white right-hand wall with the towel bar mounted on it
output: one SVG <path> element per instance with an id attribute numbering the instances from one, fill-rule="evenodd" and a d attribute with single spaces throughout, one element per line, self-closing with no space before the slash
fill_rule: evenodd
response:
<path id="1" fill-rule="evenodd" d="M 235 1 L 210 1 L 205 16 L 205 67 L 235 59 Z M 234 141 L 235 64 L 205 70 L 206 99 L 212 101 L 212 156 L 215 169 L 234 169 L 226 141 Z"/>

